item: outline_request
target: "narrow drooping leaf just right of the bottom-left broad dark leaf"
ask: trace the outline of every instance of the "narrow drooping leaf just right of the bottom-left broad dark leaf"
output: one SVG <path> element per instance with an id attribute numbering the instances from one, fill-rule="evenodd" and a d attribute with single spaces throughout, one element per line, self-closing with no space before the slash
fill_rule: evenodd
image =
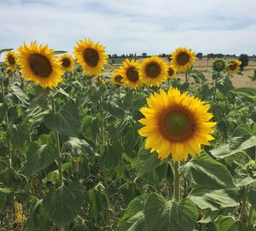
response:
<path id="1" fill-rule="evenodd" d="M 108 203 L 105 188 L 101 183 L 97 184 L 95 188 L 91 188 L 86 194 L 86 200 L 89 202 L 90 216 L 95 220 L 105 210 Z"/>

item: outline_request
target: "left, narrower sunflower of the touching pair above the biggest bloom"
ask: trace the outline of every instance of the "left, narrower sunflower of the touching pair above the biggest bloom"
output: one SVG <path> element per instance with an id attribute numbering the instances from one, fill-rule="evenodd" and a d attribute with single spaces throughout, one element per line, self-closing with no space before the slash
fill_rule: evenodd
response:
<path id="1" fill-rule="evenodd" d="M 139 64 L 135 60 L 126 59 L 123 62 L 121 75 L 124 77 L 124 83 L 131 88 L 136 89 L 143 84 Z"/>

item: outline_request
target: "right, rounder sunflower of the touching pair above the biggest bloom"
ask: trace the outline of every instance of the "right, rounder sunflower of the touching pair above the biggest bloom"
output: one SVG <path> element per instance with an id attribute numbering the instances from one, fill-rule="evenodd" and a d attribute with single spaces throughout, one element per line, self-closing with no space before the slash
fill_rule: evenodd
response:
<path id="1" fill-rule="evenodd" d="M 159 85 L 167 78 L 167 65 L 158 56 L 144 59 L 140 66 L 143 82 L 149 86 Z"/>

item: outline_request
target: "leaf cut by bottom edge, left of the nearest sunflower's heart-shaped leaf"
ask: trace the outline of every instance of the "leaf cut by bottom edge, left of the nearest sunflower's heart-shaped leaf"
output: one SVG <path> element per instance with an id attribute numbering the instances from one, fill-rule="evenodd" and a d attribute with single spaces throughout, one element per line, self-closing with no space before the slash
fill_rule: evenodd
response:
<path id="1" fill-rule="evenodd" d="M 141 195 L 131 200 L 124 216 L 119 220 L 116 231 L 148 231 L 143 212 L 146 199 L 147 196 Z"/>

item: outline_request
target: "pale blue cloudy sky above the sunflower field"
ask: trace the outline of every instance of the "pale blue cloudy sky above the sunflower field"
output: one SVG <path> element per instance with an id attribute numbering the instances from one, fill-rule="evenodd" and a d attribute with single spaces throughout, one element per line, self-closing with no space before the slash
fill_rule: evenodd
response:
<path id="1" fill-rule="evenodd" d="M 256 55 L 255 0 L 1 0 L 0 49 L 23 42 L 72 51 L 91 38 L 108 54 Z"/>

